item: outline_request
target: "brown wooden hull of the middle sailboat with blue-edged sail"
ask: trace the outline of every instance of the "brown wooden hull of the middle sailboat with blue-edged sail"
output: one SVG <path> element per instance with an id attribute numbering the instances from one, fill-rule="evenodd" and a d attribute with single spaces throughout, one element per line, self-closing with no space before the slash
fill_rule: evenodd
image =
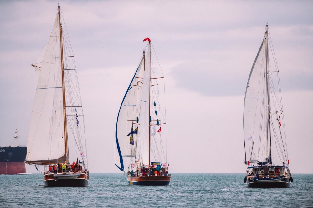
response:
<path id="1" fill-rule="evenodd" d="M 127 176 L 129 185 L 139 186 L 167 186 L 170 184 L 171 176 Z"/>

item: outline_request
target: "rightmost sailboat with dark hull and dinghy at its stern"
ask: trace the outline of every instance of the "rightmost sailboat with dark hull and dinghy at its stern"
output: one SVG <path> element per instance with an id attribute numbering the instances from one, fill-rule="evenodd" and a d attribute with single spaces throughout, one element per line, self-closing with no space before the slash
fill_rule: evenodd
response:
<path id="1" fill-rule="evenodd" d="M 244 97 L 248 187 L 290 187 L 280 77 L 269 28 L 252 65 Z M 275 160 L 274 160 L 275 159 Z"/>

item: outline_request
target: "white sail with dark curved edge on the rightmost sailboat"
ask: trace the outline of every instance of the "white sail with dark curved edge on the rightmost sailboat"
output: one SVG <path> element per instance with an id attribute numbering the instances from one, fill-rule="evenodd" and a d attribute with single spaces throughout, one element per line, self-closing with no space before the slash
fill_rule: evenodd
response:
<path id="1" fill-rule="evenodd" d="M 262 156 L 256 154 L 254 151 L 256 148 L 253 148 L 253 145 L 255 140 L 259 142 L 266 140 L 267 116 L 265 114 L 267 89 L 265 83 L 265 53 L 266 38 L 264 37 L 251 68 L 244 97 L 245 162 L 247 162 L 247 160 L 258 160 L 258 157 L 264 158 L 264 154 Z M 266 150 L 263 150 L 263 153 L 265 152 Z"/>

